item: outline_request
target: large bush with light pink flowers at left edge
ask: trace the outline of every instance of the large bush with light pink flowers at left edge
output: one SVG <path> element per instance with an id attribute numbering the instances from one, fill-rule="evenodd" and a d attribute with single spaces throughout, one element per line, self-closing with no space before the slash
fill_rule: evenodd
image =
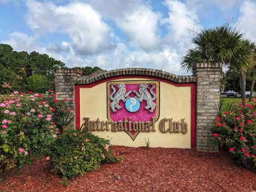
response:
<path id="1" fill-rule="evenodd" d="M 60 134 L 53 116 L 55 94 L 49 91 L 48 96 L 14 91 L 1 98 L 0 173 L 31 163 L 31 155 L 44 155 Z"/>

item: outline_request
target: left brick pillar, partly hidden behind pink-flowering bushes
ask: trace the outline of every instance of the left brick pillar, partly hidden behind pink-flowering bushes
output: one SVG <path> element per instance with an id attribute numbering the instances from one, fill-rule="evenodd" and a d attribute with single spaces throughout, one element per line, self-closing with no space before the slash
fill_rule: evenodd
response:
<path id="1" fill-rule="evenodd" d="M 79 69 L 55 69 L 54 70 L 54 81 L 55 81 L 55 92 L 57 99 L 67 98 L 75 99 L 75 85 L 74 79 L 76 77 L 82 76 L 83 71 Z M 75 115 L 75 100 L 72 104 L 73 112 L 70 113 L 71 116 Z M 75 121 L 74 121 L 75 125 Z"/>

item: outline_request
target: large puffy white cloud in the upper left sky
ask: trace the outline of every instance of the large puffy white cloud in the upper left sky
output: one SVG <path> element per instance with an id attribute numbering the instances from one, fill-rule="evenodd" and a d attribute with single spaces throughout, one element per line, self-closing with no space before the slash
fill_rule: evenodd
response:
<path id="1" fill-rule="evenodd" d="M 79 54 L 95 54 L 109 49 L 109 26 L 89 4 L 69 3 L 56 6 L 51 2 L 28 0 L 27 21 L 37 33 L 64 33 Z"/>

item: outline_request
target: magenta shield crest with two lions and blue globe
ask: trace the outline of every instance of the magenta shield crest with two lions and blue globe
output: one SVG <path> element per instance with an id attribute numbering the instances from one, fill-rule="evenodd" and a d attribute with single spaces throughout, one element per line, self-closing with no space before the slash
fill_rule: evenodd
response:
<path id="1" fill-rule="evenodd" d="M 159 118 L 158 81 L 107 82 L 107 118 L 109 121 L 152 121 Z M 125 130 L 134 141 L 139 132 Z"/>

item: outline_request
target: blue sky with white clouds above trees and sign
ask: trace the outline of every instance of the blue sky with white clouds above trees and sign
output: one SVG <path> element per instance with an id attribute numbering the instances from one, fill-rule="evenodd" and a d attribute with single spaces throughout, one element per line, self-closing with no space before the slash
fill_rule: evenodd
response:
<path id="1" fill-rule="evenodd" d="M 191 37 L 232 20 L 256 40 L 256 0 L 0 0 L 0 43 L 66 66 L 186 75 Z"/>

